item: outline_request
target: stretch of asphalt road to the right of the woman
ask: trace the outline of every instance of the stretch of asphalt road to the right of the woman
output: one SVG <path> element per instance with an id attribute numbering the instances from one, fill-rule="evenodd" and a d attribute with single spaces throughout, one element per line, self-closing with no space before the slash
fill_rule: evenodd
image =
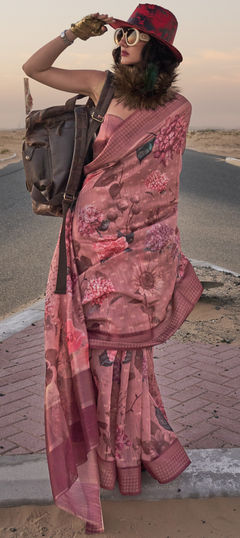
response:
<path id="1" fill-rule="evenodd" d="M 240 273 L 240 168 L 186 150 L 180 181 L 182 250 Z"/>

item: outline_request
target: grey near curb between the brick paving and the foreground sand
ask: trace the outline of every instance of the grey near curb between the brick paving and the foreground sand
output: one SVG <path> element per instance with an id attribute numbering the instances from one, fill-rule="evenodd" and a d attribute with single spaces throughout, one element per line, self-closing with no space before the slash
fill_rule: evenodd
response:
<path id="1" fill-rule="evenodd" d="M 240 448 L 192 449 L 186 452 L 191 465 L 175 480 L 159 484 L 147 472 L 142 473 L 142 493 L 127 496 L 127 499 L 157 501 L 240 495 Z M 1 507 L 53 502 L 45 454 L 1 456 L 0 480 Z M 111 501 L 123 499 L 118 486 L 113 491 L 101 490 L 101 498 Z"/>

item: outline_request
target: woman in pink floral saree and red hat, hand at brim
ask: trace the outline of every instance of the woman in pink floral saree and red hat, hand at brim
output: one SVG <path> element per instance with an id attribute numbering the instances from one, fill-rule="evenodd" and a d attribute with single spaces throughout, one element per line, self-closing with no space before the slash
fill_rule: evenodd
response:
<path id="1" fill-rule="evenodd" d="M 56 69 L 77 37 L 115 31 L 114 98 L 93 160 L 66 219 L 67 293 L 46 294 L 46 441 L 55 502 L 103 532 L 100 486 L 141 491 L 141 467 L 166 483 L 190 460 L 168 423 L 152 349 L 198 301 L 202 286 L 182 254 L 178 182 L 191 105 L 173 88 L 182 60 L 177 21 L 139 4 L 128 21 L 95 13 L 23 66 L 27 75 L 97 103 L 106 73 Z"/>

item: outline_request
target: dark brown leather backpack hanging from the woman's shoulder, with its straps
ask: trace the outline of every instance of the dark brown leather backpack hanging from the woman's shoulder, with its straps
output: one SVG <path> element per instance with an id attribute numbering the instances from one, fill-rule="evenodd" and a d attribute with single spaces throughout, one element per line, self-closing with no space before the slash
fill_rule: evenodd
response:
<path id="1" fill-rule="evenodd" d="M 107 71 L 96 107 L 90 98 L 85 105 L 77 105 L 85 97 L 79 94 L 65 105 L 33 110 L 26 117 L 22 157 L 32 209 L 37 215 L 63 217 L 55 293 L 66 293 L 66 213 L 76 203 L 84 165 L 92 159 L 94 136 L 113 97 L 112 79 Z"/>

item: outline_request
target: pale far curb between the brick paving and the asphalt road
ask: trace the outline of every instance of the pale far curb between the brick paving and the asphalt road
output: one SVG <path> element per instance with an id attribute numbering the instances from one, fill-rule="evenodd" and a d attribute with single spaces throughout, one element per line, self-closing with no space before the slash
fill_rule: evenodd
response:
<path id="1" fill-rule="evenodd" d="M 218 265 L 213 265 L 205 261 L 193 260 L 191 258 L 189 258 L 189 261 L 194 267 L 205 267 L 226 274 L 231 274 L 236 277 L 240 276 L 239 273 L 235 273 L 230 269 L 226 269 L 225 267 L 220 267 Z M 14 334 L 22 331 L 23 329 L 26 329 L 26 327 L 29 327 L 31 323 L 43 319 L 44 305 L 45 299 L 40 299 L 39 301 L 32 303 L 30 307 L 22 310 L 21 312 L 18 312 L 17 314 L 12 314 L 11 316 L 8 316 L 2 321 L 0 321 L 0 340 L 6 340 L 10 336 L 13 336 Z"/>

